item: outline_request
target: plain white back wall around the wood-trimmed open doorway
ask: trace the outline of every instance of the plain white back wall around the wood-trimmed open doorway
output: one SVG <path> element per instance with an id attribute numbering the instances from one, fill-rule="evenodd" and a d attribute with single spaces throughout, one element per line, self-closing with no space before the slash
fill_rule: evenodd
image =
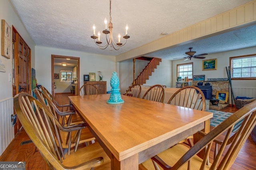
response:
<path id="1" fill-rule="evenodd" d="M 99 49 L 100 50 L 100 49 Z M 116 71 L 116 57 L 110 55 L 98 55 L 66 49 L 36 46 L 36 79 L 38 84 L 44 85 L 49 91 L 51 86 L 51 55 L 65 55 L 80 57 L 80 86 L 84 82 L 84 74 L 96 73 L 96 81 L 99 81 L 98 71 L 102 72 L 103 81 L 107 81 L 107 91 L 111 89 L 110 78 Z M 44 63 L 44 64 L 42 64 Z"/>

